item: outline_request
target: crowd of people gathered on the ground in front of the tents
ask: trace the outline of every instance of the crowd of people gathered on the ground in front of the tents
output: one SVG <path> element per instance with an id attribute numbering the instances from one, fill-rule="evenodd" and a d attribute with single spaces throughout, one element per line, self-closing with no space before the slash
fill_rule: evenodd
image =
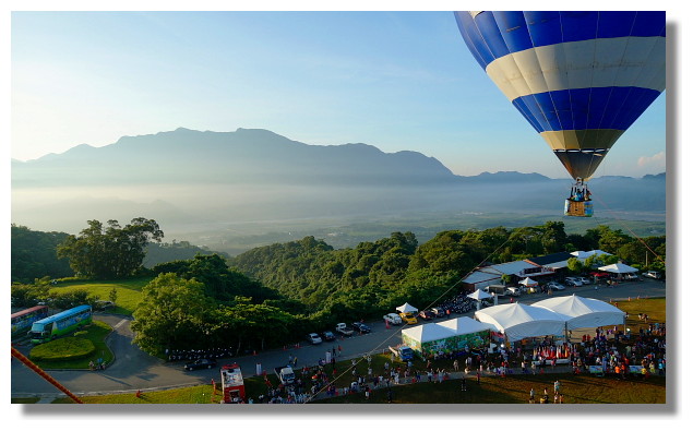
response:
<path id="1" fill-rule="evenodd" d="M 467 301 L 474 302 L 459 296 L 444 306 L 452 309 Z M 576 374 L 599 373 L 617 379 L 665 375 L 666 324 L 652 322 L 649 316 L 643 313 L 637 318 L 641 324 L 634 332 L 623 332 L 621 326 L 597 327 L 594 333 L 584 333 L 582 337 L 573 337 L 570 333 L 569 343 L 547 336 L 525 340 L 512 347 L 497 339 L 501 348 L 495 351 L 464 348 L 433 352 L 422 358 L 425 367 L 414 367 L 411 360 L 401 361 L 392 354 L 390 360 L 379 361 L 382 366 L 375 369 L 371 356 L 365 355 L 362 358 L 353 358 L 348 371 L 342 371 L 343 375 L 350 375 L 350 383 L 346 385 L 343 375 L 337 375 L 335 356 L 339 355 L 333 355 L 331 362 L 321 360 L 314 367 L 295 369 L 297 380 L 292 385 L 280 384 L 272 387 L 268 384 L 267 394 L 259 397 L 258 402 L 299 404 L 310 402 L 316 396 L 350 394 L 359 394 L 368 400 L 372 391 L 377 390 L 387 390 L 387 400 L 392 402 L 392 388 L 396 385 L 418 382 L 443 383 L 452 378 L 452 373 L 455 373 L 456 379 L 462 378 L 463 392 L 467 391 L 465 375 L 476 375 L 477 383 L 480 383 L 481 375 L 489 373 L 505 376 L 514 372 L 537 374 L 572 371 Z M 296 360 L 292 359 L 295 366 Z M 440 367 L 441 364 L 444 367 Z M 336 382 L 340 384 L 337 385 Z M 543 388 L 543 394 L 539 396 L 535 394 L 534 388 L 530 391 L 530 403 L 551 403 L 551 398 L 555 404 L 564 403 L 560 380 L 555 381 L 552 394 L 548 388 Z"/>

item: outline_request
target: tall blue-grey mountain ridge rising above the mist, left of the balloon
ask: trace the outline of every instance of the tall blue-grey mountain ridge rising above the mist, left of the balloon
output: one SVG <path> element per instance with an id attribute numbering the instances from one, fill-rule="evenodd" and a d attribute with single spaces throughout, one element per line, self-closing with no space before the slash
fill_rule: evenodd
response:
<path id="1" fill-rule="evenodd" d="M 386 154 L 371 145 L 307 145 L 267 130 L 172 132 L 80 145 L 26 163 L 13 160 L 12 185 L 249 183 L 335 185 L 453 182 L 439 160 L 415 152 Z"/>

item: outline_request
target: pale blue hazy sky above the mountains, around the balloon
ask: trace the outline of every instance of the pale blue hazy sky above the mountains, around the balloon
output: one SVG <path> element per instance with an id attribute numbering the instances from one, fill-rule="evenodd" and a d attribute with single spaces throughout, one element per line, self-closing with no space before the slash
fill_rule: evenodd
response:
<path id="1" fill-rule="evenodd" d="M 569 178 L 444 12 L 13 12 L 11 156 L 179 127 Z M 665 170 L 667 92 L 596 177 Z"/>

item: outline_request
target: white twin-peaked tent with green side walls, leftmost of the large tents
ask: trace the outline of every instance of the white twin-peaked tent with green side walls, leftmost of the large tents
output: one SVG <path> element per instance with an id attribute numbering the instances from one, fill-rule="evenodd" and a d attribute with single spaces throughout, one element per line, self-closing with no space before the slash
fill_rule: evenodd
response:
<path id="1" fill-rule="evenodd" d="M 491 330 L 493 327 L 489 324 L 458 318 L 406 328 L 402 331 L 402 342 L 426 357 L 434 352 L 486 348 L 490 343 Z"/>

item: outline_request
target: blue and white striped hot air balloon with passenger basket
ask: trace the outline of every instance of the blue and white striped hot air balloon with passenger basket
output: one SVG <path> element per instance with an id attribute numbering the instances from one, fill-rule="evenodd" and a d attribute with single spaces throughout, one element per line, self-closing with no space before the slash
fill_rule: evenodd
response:
<path id="1" fill-rule="evenodd" d="M 467 47 L 575 183 L 565 215 L 592 216 L 586 181 L 665 91 L 665 12 L 455 12 Z"/>

